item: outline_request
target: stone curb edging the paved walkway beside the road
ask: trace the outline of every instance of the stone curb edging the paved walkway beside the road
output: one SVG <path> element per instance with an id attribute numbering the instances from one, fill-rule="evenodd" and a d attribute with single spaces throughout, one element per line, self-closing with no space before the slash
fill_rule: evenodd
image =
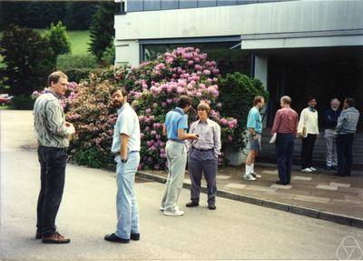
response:
<path id="1" fill-rule="evenodd" d="M 166 177 L 163 177 L 163 176 L 156 176 L 156 175 L 146 174 L 143 172 L 137 172 L 136 176 L 142 177 L 144 179 L 152 180 L 155 182 L 159 182 L 159 183 L 166 183 Z M 190 189 L 191 184 L 184 182 L 182 184 L 182 187 Z M 205 186 L 201 186 L 201 192 L 206 193 L 207 188 Z M 282 211 L 286 211 L 286 212 L 301 215 L 301 216 L 309 216 L 309 217 L 318 218 L 318 219 L 322 219 L 322 220 L 326 220 L 326 221 L 331 221 L 331 222 L 335 222 L 335 223 L 342 224 L 342 225 L 363 228 L 363 219 L 356 218 L 356 217 L 344 216 L 344 215 L 339 215 L 339 214 L 335 214 L 335 213 L 320 211 L 320 210 L 317 210 L 314 208 L 309 208 L 309 207 L 304 207 L 304 206 L 295 206 L 295 205 L 289 205 L 289 204 L 280 203 L 280 202 L 276 202 L 276 201 L 260 199 L 255 196 L 240 195 L 240 194 L 236 194 L 236 193 L 232 193 L 232 192 L 220 190 L 220 189 L 217 189 L 217 196 L 221 196 L 221 197 L 228 198 L 231 200 L 236 200 L 236 201 L 249 203 L 249 204 L 253 204 L 253 205 L 270 207 L 273 209 L 282 210 Z"/>

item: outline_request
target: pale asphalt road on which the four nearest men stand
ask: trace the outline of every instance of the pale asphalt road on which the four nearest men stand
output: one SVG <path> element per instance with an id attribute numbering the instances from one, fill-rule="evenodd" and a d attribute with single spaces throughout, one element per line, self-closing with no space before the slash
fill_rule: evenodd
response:
<path id="1" fill-rule="evenodd" d="M 348 257 L 339 248 L 347 236 L 363 246 L 362 229 L 262 206 L 217 198 L 218 208 L 211 211 L 203 195 L 200 207 L 185 209 L 185 189 L 180 206 L 186 215 L 163 216 L 163 185 L 143 181 L 135 186 L 142 239 L 109 243 L 103 236 L 114 231 L 116 222 L 113 173 L 74 165 L 67 166 L 57 216 L 59 231 L 72 242 L 44 245 L 34 239 L 39 166 L 32 114 L 0 111 L 0 121 L 1 260 L 338 259 Z"/>

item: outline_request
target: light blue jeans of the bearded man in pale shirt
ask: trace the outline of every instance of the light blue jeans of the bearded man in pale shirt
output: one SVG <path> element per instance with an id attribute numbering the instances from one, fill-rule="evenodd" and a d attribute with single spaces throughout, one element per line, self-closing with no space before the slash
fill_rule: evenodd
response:
<path id="1" fill-rule="evenodd" d="M 140 163 L 140 154 L 139 152 L 129 153 L 126 163 L 121 162 L 120 156 L 116 156 L 114 161 L 117 163 L 117 227 L 115 234 L 123 239 L 130 239 L 131 233 L 140 233 L 139 208 L 133 190 L 135 174 Z"/>

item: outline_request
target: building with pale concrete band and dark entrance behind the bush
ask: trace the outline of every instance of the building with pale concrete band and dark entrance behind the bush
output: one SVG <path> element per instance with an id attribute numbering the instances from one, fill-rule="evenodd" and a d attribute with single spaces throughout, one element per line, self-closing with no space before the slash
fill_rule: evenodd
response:
<path id="1" fill-rule="evenodd" d="M 345 96 L 363 108 L 361 0 L 127 0 L 115 16 L 116 64 L 136 66 L 176 46 L 197 46 L 222 74 L 259 78 L 270 92 L 267 127 L 290 95 L 321 112 Z M 319 118 L 322 123 L 323 119 Z M 362 120 L 359 130 L 363 130 Z"/>

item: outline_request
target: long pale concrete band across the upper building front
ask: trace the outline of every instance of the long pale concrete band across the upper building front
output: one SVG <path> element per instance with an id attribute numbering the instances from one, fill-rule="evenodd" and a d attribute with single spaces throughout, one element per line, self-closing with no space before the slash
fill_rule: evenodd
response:
<path id="1" fill-rule="evenodd" d="M 134 12 L 115 16 L 116 40 L 363 28 L 363 1 L 290 1 Z"/>

